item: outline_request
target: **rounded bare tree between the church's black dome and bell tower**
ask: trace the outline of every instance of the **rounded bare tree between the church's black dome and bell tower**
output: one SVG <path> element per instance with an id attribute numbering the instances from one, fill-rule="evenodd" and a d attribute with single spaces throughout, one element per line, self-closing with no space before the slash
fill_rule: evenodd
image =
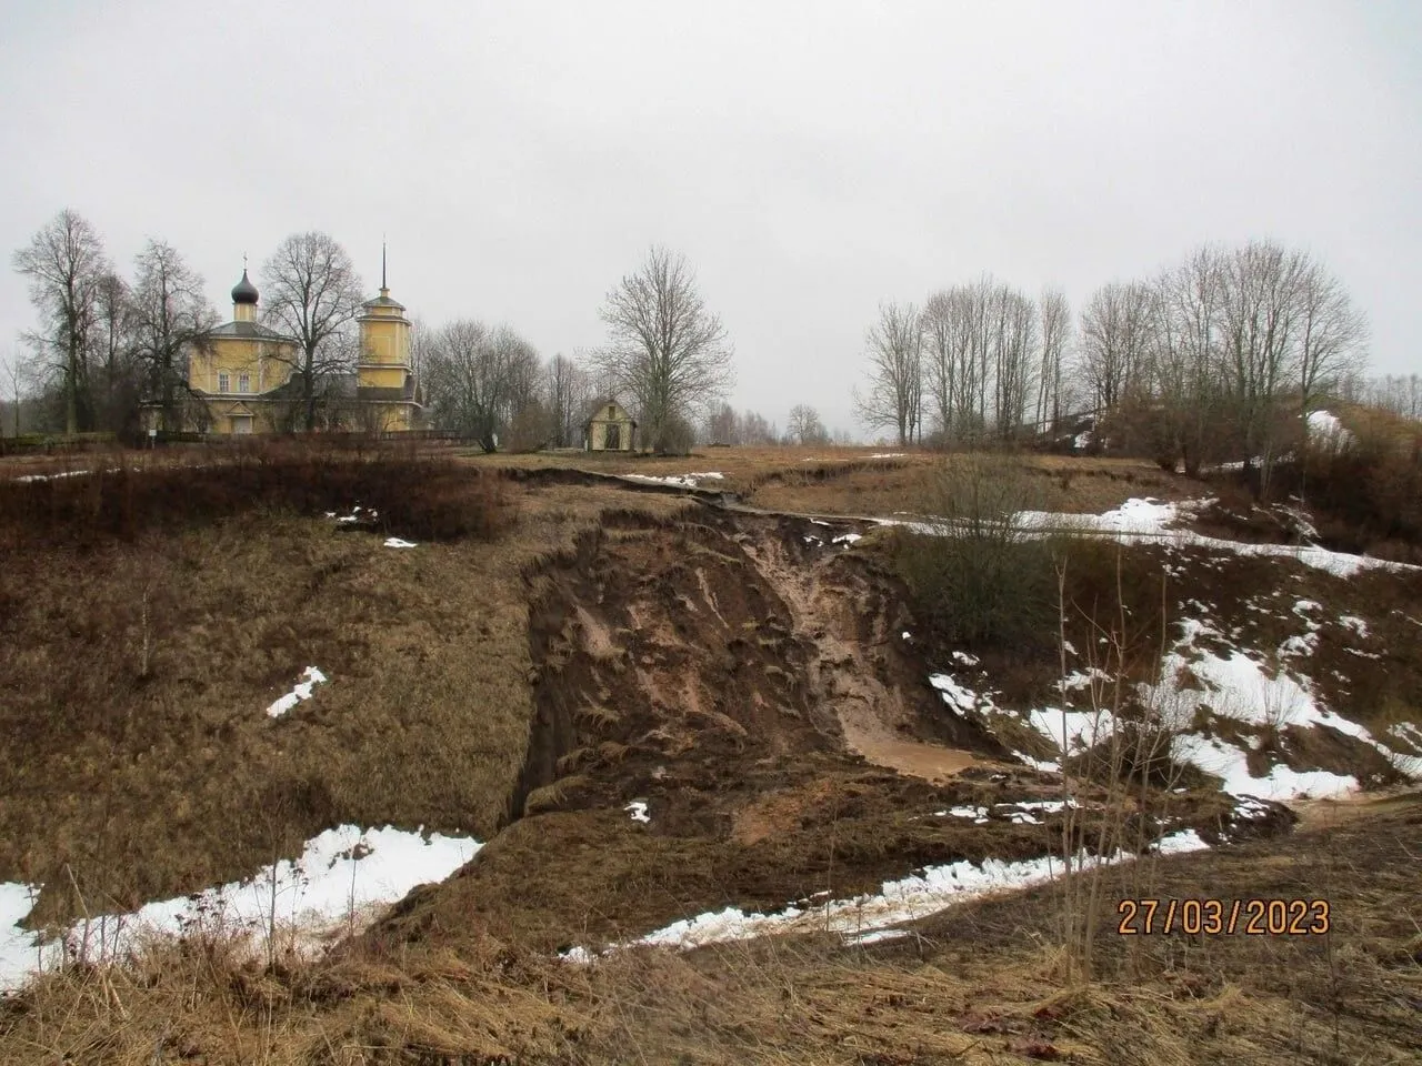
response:
<path id="1" fill-rule="evenodd" d="M 311 431 L 323 378 L 348 370 L 357 355 L 351 327 L 364 298 L 360 274 L 334 237 L 293 233 L 262 267 L 262 291 L 270 325 L 297 341 L 300 424 Z"/>

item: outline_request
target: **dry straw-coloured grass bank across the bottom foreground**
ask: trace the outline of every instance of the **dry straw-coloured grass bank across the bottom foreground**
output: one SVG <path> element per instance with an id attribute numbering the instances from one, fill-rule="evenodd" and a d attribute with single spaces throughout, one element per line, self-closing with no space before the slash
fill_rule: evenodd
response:
<path id="1" fill-rule="evenodd" d="M 1422 804 L 1357 804 L 1297 837 L 1156 860 L 1153 895 L 1324 897 L 1327 937 L 1099 932 L 1102 979 L 1066 985 L 1055 888 L 845 947 L 762 938 L 572 967 L 488 937 L 356 945 L 263 971 L 222 945 L 50 975 L 0 1005 L 17 1066 L 266 1063 L 941 1063 L 1344 1066 L 1422 1053 L 1412 878 Z M 1136 893 L 1138 871 L 1113 887 Z M 155 1057 L 156 1056 L 156 1057 Z"/>

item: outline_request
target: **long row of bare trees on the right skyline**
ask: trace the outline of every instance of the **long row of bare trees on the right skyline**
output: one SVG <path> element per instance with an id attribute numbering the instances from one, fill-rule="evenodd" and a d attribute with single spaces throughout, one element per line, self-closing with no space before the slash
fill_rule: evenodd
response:
<path id="1" fill-rule="evenodd" d="M 1367 323 L 1313 256 L 1273 242 L 1206 246 L 1155 277 L 1098 289 L 1072 323 L 991 277 L 889 303 L 866 338 L 856 409 L 900 443 L 1012 439 L 1074 407 L 1150 412 L 1148 445 L 1196 468 L 1216 445 L 1260 458 L 1281 412 L 1307 414 L 1357 371 Z M 1297 421 L 1297 418 L 1295 418 Z"/>

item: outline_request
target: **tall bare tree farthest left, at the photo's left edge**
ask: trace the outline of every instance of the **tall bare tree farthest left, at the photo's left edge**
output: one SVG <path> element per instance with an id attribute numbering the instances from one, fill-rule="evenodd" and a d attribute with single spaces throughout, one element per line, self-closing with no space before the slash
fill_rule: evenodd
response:
<path id="1" fill-rule="evenodd" d="M 64 209 L 14 253 L 14 269 L 30 279 L 30 303 L 40 327 L 26 334 L 44 377 L 60 384 L 64 429 L 88 421 L 90 338 L 100 279 L 109 273 L 104 244 L 81 215 Z"/>

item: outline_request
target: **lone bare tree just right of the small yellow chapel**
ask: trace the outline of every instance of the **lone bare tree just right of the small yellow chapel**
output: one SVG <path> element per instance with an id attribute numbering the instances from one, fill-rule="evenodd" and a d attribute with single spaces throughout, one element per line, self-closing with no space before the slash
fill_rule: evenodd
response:
<path id="1" fill-rule="evenodd" d="M 607 294 L 602 318 L 609 344 L 596 362 L 636 398 L 653 449 L 673 418 L 704 411 L 735 381 L 725 328 L 707 310 L 685 256 L 653 247 Z"/>

